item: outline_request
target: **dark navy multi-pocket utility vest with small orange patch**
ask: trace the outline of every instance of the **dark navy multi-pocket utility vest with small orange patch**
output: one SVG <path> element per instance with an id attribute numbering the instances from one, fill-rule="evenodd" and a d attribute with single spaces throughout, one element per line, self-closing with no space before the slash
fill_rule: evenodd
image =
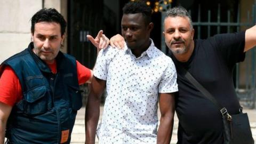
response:
<path id="1" fill-rule="evenodd" d="M 59 52 L 57 74 L 39 59 L 33 43 L 4 61 L 18 76 L 22 100 L 7 121 L 8 143 L 70 143 L 77 110 L 82 106 L 76 60 Z"/>

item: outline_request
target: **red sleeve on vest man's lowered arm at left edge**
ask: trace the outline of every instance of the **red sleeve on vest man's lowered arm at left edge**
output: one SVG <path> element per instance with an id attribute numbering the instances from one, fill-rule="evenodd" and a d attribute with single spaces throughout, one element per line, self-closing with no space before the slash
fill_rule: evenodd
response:
<path id="1" fill-rule="evenodd" d="M 22 99 L 22 90 L 19 78 L 11 67 L 6 66 L 0 78 L 0 102 L 14 106 Z"/>

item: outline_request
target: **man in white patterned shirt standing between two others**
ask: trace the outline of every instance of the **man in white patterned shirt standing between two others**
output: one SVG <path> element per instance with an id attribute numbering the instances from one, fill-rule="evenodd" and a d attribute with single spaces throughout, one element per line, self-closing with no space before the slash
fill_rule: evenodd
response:
<path id="1" fill-rule="evenodd" d="M 86 141 L 95 143 L 100 97 L 107 97 L 97 135 L 99 143 L 170 143 L 177 74 L 171 58 L 149 38 L 151 9 L 142 2 L 123 8 L 125 48 L 101 50 L 86 106 Z M 157 132 L 157 102 L 161 111 Z"/>

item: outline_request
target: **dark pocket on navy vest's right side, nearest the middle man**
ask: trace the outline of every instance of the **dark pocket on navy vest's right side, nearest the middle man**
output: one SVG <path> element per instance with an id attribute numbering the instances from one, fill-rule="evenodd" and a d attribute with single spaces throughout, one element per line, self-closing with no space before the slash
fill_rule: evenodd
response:
<path id="1" fill-rule="evenodd" d="M 72 109 L 79 110 L 83 105 L 81 90 L 79 89 L 79 87 L 68 85 L 68 91 L 69 91 Z"/>

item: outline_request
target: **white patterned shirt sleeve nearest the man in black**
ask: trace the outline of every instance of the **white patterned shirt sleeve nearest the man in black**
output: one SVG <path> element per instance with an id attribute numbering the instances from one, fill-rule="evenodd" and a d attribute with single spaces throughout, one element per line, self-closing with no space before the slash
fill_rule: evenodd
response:
<path id="1" fill-rule="evenodd" d="M 166 61 L 170 61 L 169 65 L 164 71 L 164 74 L 161 78 L 161 82 L 158 85 L 159 93 L 173 93 L 178 91 L 177 84 L 177 73 L 174 66 L 174 63 L 171 59 Z"/>

